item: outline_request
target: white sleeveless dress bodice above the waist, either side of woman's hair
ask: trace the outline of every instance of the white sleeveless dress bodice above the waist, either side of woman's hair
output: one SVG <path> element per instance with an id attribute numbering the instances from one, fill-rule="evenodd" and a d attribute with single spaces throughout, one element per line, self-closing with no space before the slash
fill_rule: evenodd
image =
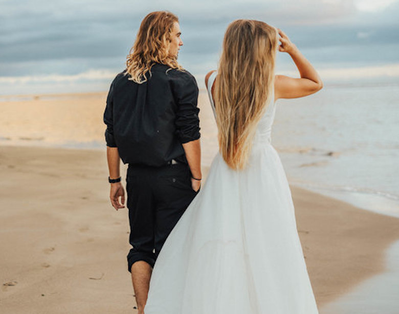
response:
<path id="1" fill-rule="evenodd" d="M 208 96 L 212 106 L 213 114 L 216 118 L 215 103 L 213 102 L 212 92 L 211 92 L 213 83 L 215 82 L 215 78 L 216 78 L 216 71 L 214 71 L 208 79 Z M 271 142 L 272 126 L 276 114 L 276 103 L 274 102 L 274 89 L 272 90 L 273 93 L 271 95 L 271 101 L 267 106 L 263 116 L 260 118 L 260 121 L 256 129 L 255 138 L 253 142 L 254 145 Z"/>

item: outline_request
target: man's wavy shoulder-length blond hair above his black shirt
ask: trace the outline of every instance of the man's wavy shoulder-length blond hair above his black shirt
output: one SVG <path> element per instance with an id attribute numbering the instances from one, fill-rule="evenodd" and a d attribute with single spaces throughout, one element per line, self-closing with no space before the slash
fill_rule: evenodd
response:
<path id="1" fill-rule="evenodd" d="M 167 11 L 151 12 L 144 17 L 135 44 L 126 57 L 125 74 L 130 74 L 130 80 L 139 84 L 146 82 L 146 74 L 151 75 L 155 62 L 182 69 L 176 58 L 168 53 L 174 22 L 179 22 L 178 17 Z"/>

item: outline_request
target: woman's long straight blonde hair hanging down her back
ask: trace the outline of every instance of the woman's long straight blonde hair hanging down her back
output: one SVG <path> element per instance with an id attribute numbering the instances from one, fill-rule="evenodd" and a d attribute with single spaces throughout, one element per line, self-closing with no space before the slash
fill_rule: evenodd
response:
<path id="1" fill-rule="evenodd" d="M 220 153 L 234 170 L 245 168 L 256 126 L 271 99 L 277 31 L 256 20 L 227 28 L 214 85 Z"/>

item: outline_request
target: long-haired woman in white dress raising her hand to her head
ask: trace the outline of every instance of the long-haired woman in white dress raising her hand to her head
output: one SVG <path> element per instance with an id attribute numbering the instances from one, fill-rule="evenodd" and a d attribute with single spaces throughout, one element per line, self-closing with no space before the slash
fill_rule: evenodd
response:
<path id="1" fill-rule="evenodd" d="M 277 49 L 290 54 L 300 79 L 274 75 Z M 270 135 L 275 101 L 314 93 L 322 82 L 282 31 L 236 20 L 206 83 L 219 154 L 159 255 L 145 313 L 317 313 Z"/>

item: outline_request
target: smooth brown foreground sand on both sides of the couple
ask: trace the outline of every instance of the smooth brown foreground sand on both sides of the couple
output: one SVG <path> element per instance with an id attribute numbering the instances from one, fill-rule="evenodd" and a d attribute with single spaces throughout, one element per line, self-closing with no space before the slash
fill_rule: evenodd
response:
<path id="1" fill-rule="evenodd" d="M 129 312 L 127 212 L 109 204 L 105 153 L 0 147 L 0 170 L 2 312 Z M 397 219 L 299 188 L 293 198 L 319 307 L 383 271 Z"/>

